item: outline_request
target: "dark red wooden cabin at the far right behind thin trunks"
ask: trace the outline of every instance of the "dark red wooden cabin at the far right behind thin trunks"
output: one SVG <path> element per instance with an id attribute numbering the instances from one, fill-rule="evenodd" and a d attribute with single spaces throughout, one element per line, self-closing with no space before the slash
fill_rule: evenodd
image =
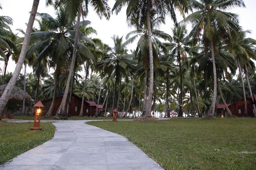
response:
<path id="1" fill-rule="evenodd" d="M 247 116 L 254 117 L 253 114 L 253 100 L 251 98 L 246 98 L 247 102 Z M 236 101 L 232 104 L 227 104 L 230 111 L 233 113 L 233 115 L 237 117 L 242 117 L 244 115 L 244 99 L 241 99 L 239 101 Z M 225 105 L 224 104 L 218 104 L 217 110 L 221 113 L 225 112 Z"/>

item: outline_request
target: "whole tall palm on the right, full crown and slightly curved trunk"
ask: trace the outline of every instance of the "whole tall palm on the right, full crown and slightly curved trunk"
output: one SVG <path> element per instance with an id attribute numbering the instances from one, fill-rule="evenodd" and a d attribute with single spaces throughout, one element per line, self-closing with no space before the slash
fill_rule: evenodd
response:
<path id="1" fill-rule="evenodd" d="M 225 12 L 225 9 L 231 7 L 245 7 L 243 0 L 193 0 L 192 5 L 198 11 L 190 14 L 185 21 L 192 23 L 192 31 L 189 34 L 195 40 L 201 38 L 204 45 L 204 51 L 211 52 L 213 61 L 213 97 L 211 108 L 207 116 L 214 116 L 216 96 L 217 96 L 217 75 L 216 75 L 216 48 L 218 41 L 221 41 L 220 35 L 227 35 L 233 30 L 238 30 L 237 15 Z M 201 32 L 203 32 L 201 34 Z"/>

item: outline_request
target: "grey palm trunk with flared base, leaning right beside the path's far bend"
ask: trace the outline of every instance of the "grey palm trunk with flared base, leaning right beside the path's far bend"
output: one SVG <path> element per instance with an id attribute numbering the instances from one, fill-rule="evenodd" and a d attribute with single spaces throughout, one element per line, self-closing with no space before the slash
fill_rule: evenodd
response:
<path id="1" fill-rule="evenodd" d="M 70 64 L 69 73 L 68 73 L 67 84 L 66 84 L 65 91 L 64 91 L 64 94 L 62 97 L 61 105 L 59 106 L 59 108 L 56 112 L 56 116 L 55 116 L 56 119 L 66 117 L 65 106 L 66 106 L 66 101 L 67 101 L 67 97 L 68 97 L 68 89 L 69 89 L 70 80 L 72 77 L 72 73 L 74 71 L 75 58 L 77 55 L 77 42 L 78 42 L 78 33 L 79 33 L 79 26 L 80 26 L 80 17 L 81 17 L 81 9 L 79 10 L 78 16 L 77 16 L 77 27 L 76 27 L 76 31 L 75 31 L 74 48 L 73 48 L 71 64 Z"/>

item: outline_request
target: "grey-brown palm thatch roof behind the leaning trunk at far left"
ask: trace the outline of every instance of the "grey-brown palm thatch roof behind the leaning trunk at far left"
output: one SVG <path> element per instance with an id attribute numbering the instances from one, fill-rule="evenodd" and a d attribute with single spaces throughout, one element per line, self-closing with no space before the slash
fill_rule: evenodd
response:
<path id="1" fill-rule="evenodd" d="M 0 96 L 3 94 L 4 89 L 6 88 L 7 84 L 0 85 Z M 31 96 L 23 91 L 22 89 L 14 86 L 13 91 L 10 95 L 10 99 L 15 99 L 15 100 L 23 100 L 23 97 L 25 98 L 26 101 L 31 100 Z"/>

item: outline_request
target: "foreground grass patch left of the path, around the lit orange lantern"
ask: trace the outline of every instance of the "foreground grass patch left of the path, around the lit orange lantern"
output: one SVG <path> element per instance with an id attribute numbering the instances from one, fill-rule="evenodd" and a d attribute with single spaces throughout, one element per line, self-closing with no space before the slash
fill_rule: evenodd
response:
<path id="1" fill-rule="evenodd" d="M 30 130 L 33 123 L 0 121 L 0 164 L 6 163 L 54 136 L 52 123 L 41 123 L 42 130 Z"/>

